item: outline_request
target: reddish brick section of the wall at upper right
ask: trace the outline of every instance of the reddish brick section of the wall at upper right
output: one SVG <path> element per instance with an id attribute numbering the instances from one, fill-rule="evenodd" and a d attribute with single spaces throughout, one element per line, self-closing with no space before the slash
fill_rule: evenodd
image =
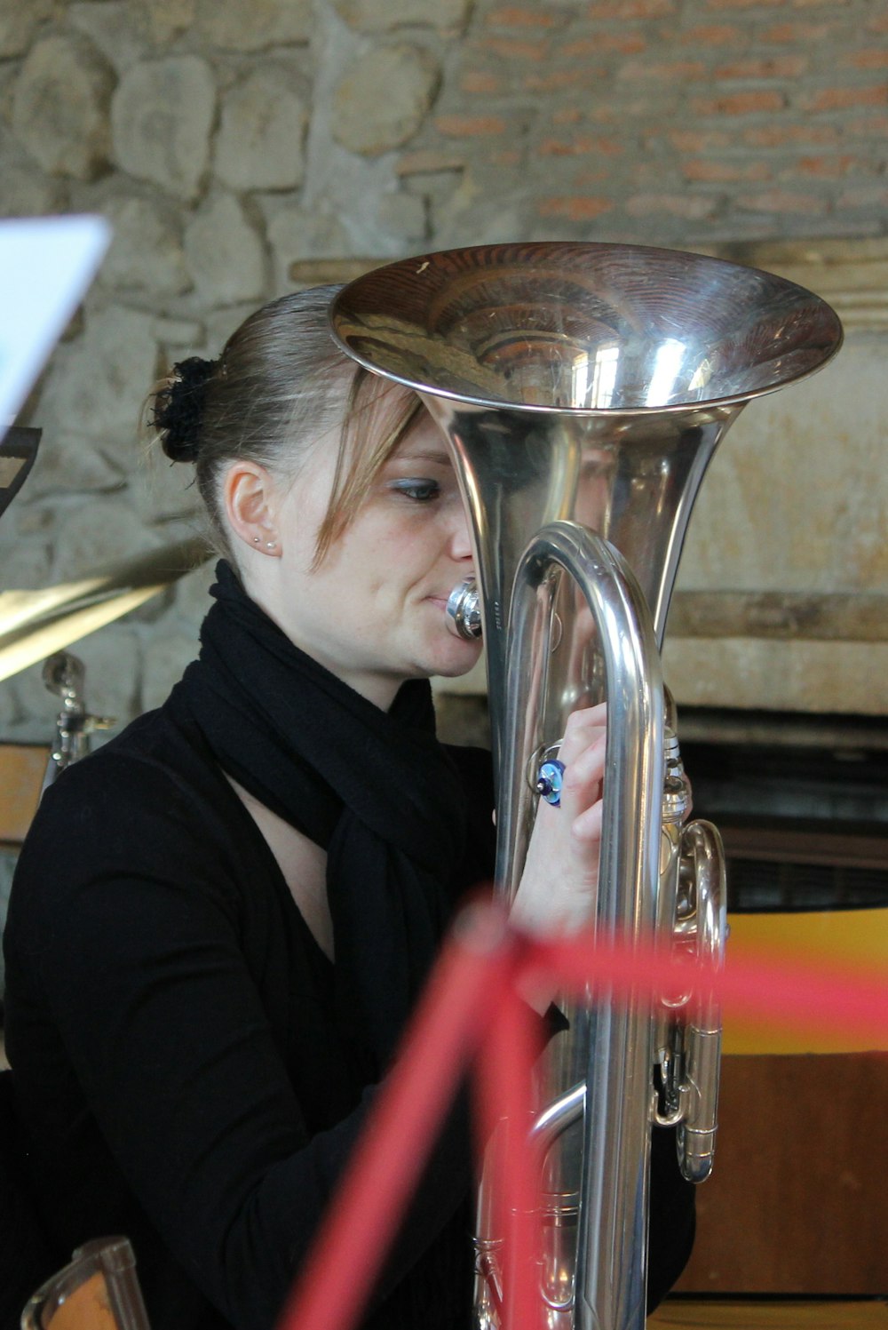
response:
<path id="1" fill-rule="evenodd" d="M 888 17 L 872 0 L 483 3 L 399 173 L 464 172 L 485 237 L 873 234 Z"/>

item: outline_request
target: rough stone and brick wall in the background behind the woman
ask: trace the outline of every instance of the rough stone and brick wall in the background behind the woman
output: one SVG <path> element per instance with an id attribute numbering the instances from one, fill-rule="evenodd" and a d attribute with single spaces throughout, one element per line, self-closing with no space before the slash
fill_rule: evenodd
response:
<path id="1" fill-rule="evenodd" d="M 44 440 L 0 524 L 0 587 L 44 587 L 193 529 L 183 477 L 141 455 L 141 403 L 160 370 L 214 354 L 245 313 L 312 273 L 513 238 L 879 245 L 887 130 L 888 17 L 872 0 L 0 0 L 1 211 L 90 210 L 114 226 L 23 416 Z M 881 390 L 879 336 L 860 323 L 849 338 L 852 412 Z M 837 384 L 843 370 L 828 372 Z M 721 463 L 728 497 L 702 519 L 713 544 L 689 551 L 691 588 L 884 593 L 877 420 L 843 426 L 849 476 L 812 391 L 808 434 L 771 422 L 790 428 L 811 533 L 782 537 L 776 557 L 768 544 L 713 552 L 726 505 L 752 504 L 756 485 L 768 529 L 787 520 L 778 496 L 799 505 L 799 472 L 770 487 L 771 447 L 740 422 Z M 837 527 L 856 541 L 851 564 Z M 165 694 L 193 654 L 206 581 L 77 645 L 94 709 L 122 721 Z M 888 710 L 860 661 L 849 692 L 794 692 L 778 669 L 763 694 L 763 670 L 739 648 L 721 658 L 731 650 L 715 674 L 682 664 L 690 697 L 816 709 L 840 693 L 844 709 Z M 0 685 L 0 734 L 47 738 L 55 709 L 27 670 Z"/>

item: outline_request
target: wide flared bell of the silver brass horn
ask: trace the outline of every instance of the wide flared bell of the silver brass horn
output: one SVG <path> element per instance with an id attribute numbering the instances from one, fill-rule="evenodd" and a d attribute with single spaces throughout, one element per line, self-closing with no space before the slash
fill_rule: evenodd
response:
<path id="1" fill-rule="evenodd" d="M 810 291 L 721 259 L 631 245 L 485 245 L 421 255 L 336 298 L 334 335 L 413 387 L 451 439 L 476 535 L 491 696 L 528 536 L 572 519 L 642 584 L 662 644 L 697 491 L 754 396 L 841 343 Z M 566 654 L 566 653 L 565 653 Z M 495 722 L 495 762 L 501 741 Z"/>

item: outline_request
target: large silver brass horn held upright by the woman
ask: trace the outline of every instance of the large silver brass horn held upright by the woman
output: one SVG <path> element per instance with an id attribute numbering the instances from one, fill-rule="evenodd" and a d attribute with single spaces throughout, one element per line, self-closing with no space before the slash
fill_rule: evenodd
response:
<path id="1" fill-rule="evenodd" d="M 752 398 L 823 366 L 835 313 L 767 273 L 627 245 L 485 245 L 378 269 L 331 309 L 342 347 L 405 384 L 449 442 L 473 531 L 497 785 L 497 887 L 516 890 L 542 769 L 577 706 L 608 702 L 596 932 L 713 966 L 722 850 L 690 797 L 659 649 L 694 499 Z M 719 1017 L 711 995 L 572 1004 L 540 1068 L 545 1152 L 536 1325 L 645 1325 L 655 1123 L 685 1176 L 710 1170 Z M 500 1238 L 483 1180 L 475 1325 L 500 1326 Z"/>

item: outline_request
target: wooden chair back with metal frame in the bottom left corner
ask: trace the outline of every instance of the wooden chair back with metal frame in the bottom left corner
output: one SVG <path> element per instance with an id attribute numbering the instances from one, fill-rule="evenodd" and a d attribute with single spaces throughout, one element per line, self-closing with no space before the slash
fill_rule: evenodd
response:
<path id="1" fill-rule="evenodd" d="M 97 1238 L 47 1279 L 21 1313 L 21 1330 L 149 1330 L 128 1238 Z"/>

